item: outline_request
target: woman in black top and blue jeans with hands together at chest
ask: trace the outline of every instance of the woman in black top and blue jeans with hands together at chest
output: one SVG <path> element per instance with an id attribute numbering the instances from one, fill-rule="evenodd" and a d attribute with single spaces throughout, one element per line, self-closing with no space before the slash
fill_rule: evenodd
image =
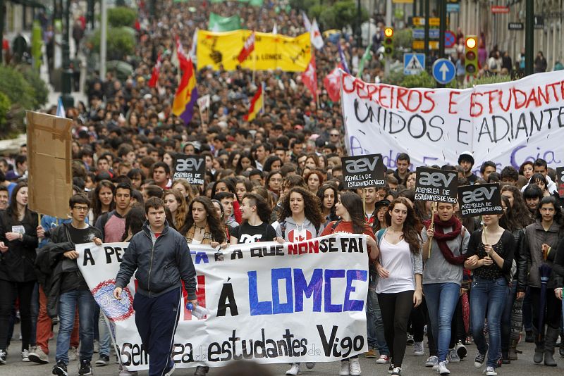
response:
<path id="1" fill-rule="evenodd" d="M 501 315 L 509 293 L 515 239 L 499 225 L 501 215 L 482 215 L 484 228 L 474 231 L 466 252 L 464 267 L 474 270 L 470 292 L 470 320 L 472 336 L 478 348 L 474 367 L 481 368 L 486 359 L 486 376 L 497 376 L 496 367 L 501 346 Z M 486 317 L 487 311 L 487 317 Z M 484 336 L 484 322 L 488 319 L 489 344 Z"/>

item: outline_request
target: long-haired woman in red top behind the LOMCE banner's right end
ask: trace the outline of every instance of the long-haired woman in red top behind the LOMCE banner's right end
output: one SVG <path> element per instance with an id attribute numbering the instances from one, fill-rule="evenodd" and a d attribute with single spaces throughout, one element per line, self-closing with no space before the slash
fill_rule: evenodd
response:
<path id="1" fill-rule="evenodd" d="M 364 213 L 362 210 L 362 199 L 354 192 L 343 192 L 338 196 L 336 203 L 336 215 L 341 219 L 333 221 L 325 227 L 321 232 L 321 237 L 331 235 L 336 232 L 345 232 L 348 234 L 365 234 L 367 235 L 366 241 L 369 249 L 370 260 L 378 257 L 378 245 L 374 237 L 372 228 L 364 222 Z M 405 346 L 405 341 L 404 341 Z M 351 356 L 350 358 L 341 361 L 341 370 L 339 375 L 360 375 L 360 363 L 358 356 Z"/>

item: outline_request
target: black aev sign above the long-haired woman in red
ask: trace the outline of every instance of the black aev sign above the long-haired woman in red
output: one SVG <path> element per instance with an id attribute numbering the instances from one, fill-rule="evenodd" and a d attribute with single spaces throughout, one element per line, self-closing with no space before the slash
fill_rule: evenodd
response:
<path id="1" fill-rule="evenodd" d="M 386 185 L 386 168 L 381 154 L 343 157 L 341 163 L 347 189 Z"/>

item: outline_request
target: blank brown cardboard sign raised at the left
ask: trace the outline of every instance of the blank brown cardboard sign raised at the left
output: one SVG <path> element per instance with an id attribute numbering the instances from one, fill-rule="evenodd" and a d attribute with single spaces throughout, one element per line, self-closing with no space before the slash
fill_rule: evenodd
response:
<path id="1" fill-rule="evenodd" d="M 27 111 L 27 205 L 37 213 L 66 218 L 73 194 L 73 121 Z"/>

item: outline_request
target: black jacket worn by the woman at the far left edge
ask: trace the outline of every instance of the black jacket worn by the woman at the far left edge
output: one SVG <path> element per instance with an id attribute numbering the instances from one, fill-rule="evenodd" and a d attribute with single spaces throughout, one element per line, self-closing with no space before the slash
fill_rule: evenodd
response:
<path id="1" fill-rule="evenodd" d="M 0 252 L 0 280 L 29 282 L 37 280 L 35 276 L 35 249 L 37 248 L 37 213 L 27 211 L 20 222 L 14 220 L 11 211 L 0 211 L 0 242 L 8 246 L 8 251 Z M 8 242 L 6 232 L 12 232 L 12 226 L 23 226 L 23 239 Z M 2 292 L 0 292 L 2 294 Z"/>

